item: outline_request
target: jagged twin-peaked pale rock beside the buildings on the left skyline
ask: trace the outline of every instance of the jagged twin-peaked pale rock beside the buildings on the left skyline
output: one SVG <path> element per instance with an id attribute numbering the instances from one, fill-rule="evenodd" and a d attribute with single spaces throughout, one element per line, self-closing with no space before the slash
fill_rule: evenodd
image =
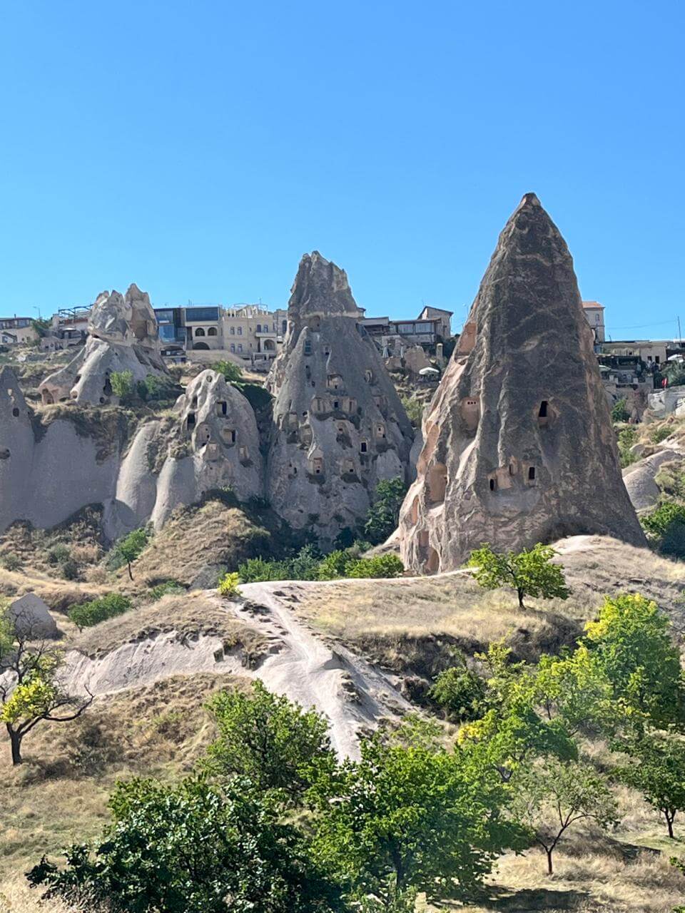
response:
<path id="1" fill-rule="evenodd" d="M 90 314 L 88 333 L 84 348 L 71 362 L 40 384 L 43 403 L 116 402 L 110 383 L 113 372 L 130 371 L 133 382 L 144 381 L 148 374 L 168 376 L 150 298 L 136 285 L 125 296 L 101 292 Z"/>

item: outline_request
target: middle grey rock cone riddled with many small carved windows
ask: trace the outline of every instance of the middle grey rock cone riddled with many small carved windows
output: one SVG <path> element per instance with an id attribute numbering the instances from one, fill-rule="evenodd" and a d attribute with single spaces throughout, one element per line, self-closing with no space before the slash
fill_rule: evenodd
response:
<path id="1" fill-rule="evenodd" d="M 364 517 L 380 479 L 408 471 L 412 428 L 360 316 L 344 271 L 302 257 L 269 375 L 267 492 L 280 517 L 322 539 Z"/>

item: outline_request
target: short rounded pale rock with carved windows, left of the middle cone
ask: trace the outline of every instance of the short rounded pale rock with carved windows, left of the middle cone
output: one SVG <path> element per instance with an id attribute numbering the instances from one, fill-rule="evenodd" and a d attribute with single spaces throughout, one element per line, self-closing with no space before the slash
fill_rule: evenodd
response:
<path id="1" fill-rule="evenodd" d="M 114 539 L 205 491 L 230 487 L 240 500 L 262 495 L 257 422 L 248 400 L 215 371 L 203 371 L 174 406 L 174 418 L 143 425 L 121 463 L 105 531 Z"/>

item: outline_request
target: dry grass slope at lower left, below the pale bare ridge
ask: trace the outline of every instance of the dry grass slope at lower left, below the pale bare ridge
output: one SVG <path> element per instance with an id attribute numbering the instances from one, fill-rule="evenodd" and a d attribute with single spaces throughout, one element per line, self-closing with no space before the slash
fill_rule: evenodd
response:
<path id="1" fill-rule="evenodd" d="M 118 779 L 190 771 L 214 738 L 205 699 L 247 682 L 176 676 L 99 698 L 73 723 L 38 726 L 26 737 L 26 761 L 18 768 L 11 766 L 8 742 L 0 739 L 0 878 L 26 871 L 43 853 L 56 854 L 98 834 Z"/>

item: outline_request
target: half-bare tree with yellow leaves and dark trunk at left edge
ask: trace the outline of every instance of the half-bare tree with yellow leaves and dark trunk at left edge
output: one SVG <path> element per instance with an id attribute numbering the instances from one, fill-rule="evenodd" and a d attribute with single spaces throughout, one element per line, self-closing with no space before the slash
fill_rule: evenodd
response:
<path id="1" fill-rule="evenodd" d="M 44 719 L 68 722 L 90 707 L 92 696 L 77 698 L 58 677 L 62 655 L 34 635 L 33 616 L 0 613 L 0 721 L 5 723 L 12 763 L 22 762 L 22 741 Z M 88 690 L 88 689 L 87 689 Z"/>

